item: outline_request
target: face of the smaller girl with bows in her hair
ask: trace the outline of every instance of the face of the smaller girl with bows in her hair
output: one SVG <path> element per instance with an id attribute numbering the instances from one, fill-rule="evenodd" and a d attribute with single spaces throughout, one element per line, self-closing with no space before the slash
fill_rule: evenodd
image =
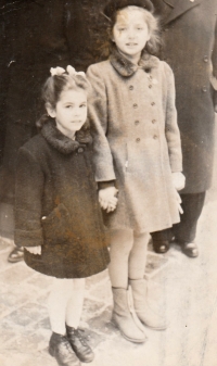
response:
<path id="1" fill-rule="evenodd" d="M 62 91 L 55 109 L 48 113 L 56 121 L 58 129 L 65 136 L 73 138 L 87 119 L 87 93 L 82 89 Z"/>

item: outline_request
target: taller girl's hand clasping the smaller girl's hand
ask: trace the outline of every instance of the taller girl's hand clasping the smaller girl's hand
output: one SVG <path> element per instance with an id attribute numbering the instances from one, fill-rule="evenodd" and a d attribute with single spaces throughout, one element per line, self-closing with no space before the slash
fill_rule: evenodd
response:
<path id="1" fill-rule="evenodd" d="M 112 212 L 117 206 L 117 192 L 115 187 L 107 187 L 99 190 L 99 202 L 100 206 L 106 212 Z"/>

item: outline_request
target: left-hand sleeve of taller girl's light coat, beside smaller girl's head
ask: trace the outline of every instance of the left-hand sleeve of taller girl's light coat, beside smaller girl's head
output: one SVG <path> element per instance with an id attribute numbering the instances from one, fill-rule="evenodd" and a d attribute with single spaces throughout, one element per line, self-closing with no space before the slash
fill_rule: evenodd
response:
<path id="1" fill-rule="evenodd" d="M 93 163 L 97 181 L 115 179 L 113 157 L 106 138 L 107 97 L 105 84 L 97 65 L 88 68 L 87 77 L 92 85 L 92 98 L 89 103 L 89 119 L 93 138 Z"/>

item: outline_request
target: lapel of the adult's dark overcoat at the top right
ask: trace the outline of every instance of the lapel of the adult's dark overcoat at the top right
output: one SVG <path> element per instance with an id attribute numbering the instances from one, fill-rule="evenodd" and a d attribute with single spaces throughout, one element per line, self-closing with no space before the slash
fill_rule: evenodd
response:
<path id="1" fill-rule="evenodd" d="M 163 0 L 167 5 L 171 7 L 171 12 L 165 18 L 164 24 L 175 21 L 178 16 L 186 13 L 188 10 L 200 5 L 203 0 Z"/>

